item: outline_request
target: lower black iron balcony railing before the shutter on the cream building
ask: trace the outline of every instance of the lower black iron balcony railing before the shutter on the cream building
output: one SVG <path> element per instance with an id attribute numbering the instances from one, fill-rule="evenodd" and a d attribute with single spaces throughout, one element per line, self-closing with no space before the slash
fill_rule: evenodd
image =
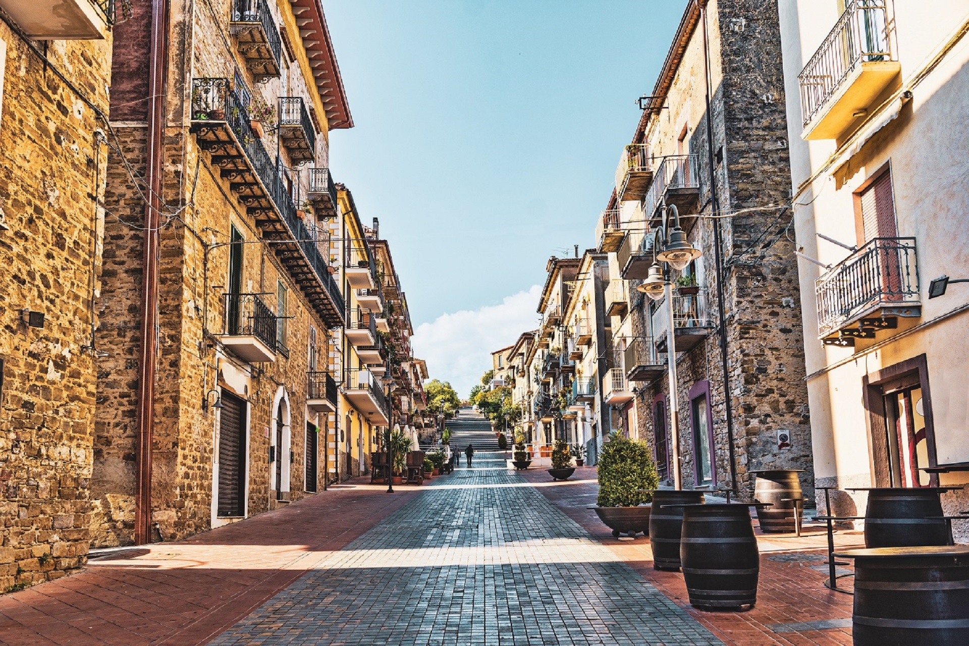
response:
<path id="1" fill-rule="evenodd" d="M 879 309 L 920 306 L 915 238 L 874 238 L 814 284 L 822 337 Z"/>

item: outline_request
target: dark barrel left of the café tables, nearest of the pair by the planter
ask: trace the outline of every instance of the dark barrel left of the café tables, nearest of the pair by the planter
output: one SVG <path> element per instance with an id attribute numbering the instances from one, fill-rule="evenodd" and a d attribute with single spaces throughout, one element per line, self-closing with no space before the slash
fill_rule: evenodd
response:
<path id="1" fill-rule="evenodd" d="M 685 505 L 679 559 L 690 604 L 698 608 L 754 607 L 760 555 L 743 504 Z"/>

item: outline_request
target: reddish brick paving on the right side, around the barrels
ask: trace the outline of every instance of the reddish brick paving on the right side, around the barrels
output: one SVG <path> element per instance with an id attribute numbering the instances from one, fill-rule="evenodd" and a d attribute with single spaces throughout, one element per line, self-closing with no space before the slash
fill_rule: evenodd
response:
<path id="1" fill-rule="evenodd" d="M 757 605 L 748 612 L 703 612 L 690 606 L 679 572 L 653 569 L 648 538 L 612 538 L 594 511 L 598 484 L 594 467 L 579 468 L 567 482 L 555 483 L 545 470 L 525 479 L 589 534 L 656 586 L 729 646 L 835 646 L 851 644 L 852 597 L 825 587 L 827 538 L 821 526 L 805 528 L 801 538 L 757 531 L 761 574 Z M 838 533 L 838 546 L 860 545 L 860 533 Z M 838 573 L 851 568 L 839 568 Z M 838 585 L 852 590 L 853 578 Z"/>

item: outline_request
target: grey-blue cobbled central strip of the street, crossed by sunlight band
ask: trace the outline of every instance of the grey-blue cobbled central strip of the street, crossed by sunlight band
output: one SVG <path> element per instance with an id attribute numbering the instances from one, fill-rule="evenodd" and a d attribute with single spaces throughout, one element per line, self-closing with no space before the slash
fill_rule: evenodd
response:
<path id="1" fill-rule="evenodd" d="M 497 457 L 435 480 L 211 643 L 722 643 Z"/>

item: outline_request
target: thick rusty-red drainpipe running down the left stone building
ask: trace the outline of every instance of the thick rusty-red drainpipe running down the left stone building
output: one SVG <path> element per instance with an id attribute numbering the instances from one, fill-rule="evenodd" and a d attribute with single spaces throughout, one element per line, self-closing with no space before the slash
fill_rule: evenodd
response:
<path id="1" fill-rule="evenodd" d="M 168 0 L 152 0 L 148 59 L 148 129 L 141 277 L 141 351 L 138 379 L 137 490 L 135 544 L 151 540 L 151 458 L 155 415 L 155 365 L 158 350 L 158 214 L 162 208 L 162 148 L 165 130 L 165 79 L 168 76 Z"/>

